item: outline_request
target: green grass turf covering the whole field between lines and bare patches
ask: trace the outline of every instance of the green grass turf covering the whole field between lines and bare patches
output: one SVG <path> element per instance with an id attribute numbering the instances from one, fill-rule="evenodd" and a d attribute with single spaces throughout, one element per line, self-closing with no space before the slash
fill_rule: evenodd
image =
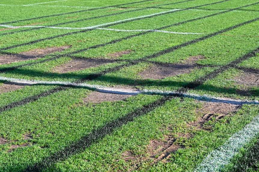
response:
<path id="1" fill-rule="evenodd" d="M 92 7 L 105 7 L 134 1 L 68 0 L 37 4 L 43 1 L 10 0 L 0 3 L 0 23 L 25 20 L 6 25 L 55 25 L 56 27 L 83 28 L 218 1 L 193 0 L 166 5 L 180 1 L 151 0 L 87 11 L 87 9 L 92 9 Z M 191 20 L 162 30 L 201 34 L 150 32 L 136 36 L 135 34 L 140 34 L 142 31 L 124 32 L 94 29 L 92 31 L 59 36 L 80 30 L 57 28 L 38 28 L 28 31 L 26 30 L 29 28 L 1 30 L 6 27 L 0 26 L 0 54 L 21 53 L 37 48 L 59 47 L 63 45 L 71 46 L 71 48 L 65 51 L 48 54 L 36 60 L 2 64 L 0 65 L 0 70 L 3 72 L 0 73 L 0 77 L 76 82 L 85 77 L 114 69 L 120 65 L 131 64 L 130 62 L 132 61 L 135 62 L 145 57 L 153 57 L 153 54 L 161 52 L 161 54 L 154 56 L 154 58 L 139 61 L 122 69 L 118 68 L 92 80 L 86 80 L 84 83 L 109 87 L 130 86 L 140 90 L 181 90 L 188 84 L 195 83 L 200 78 L 206 77 L 208 74 L 217 71 L 217 69 L 224 68 L 224 66 L 232 63 L 234 60 L 258 48 L 258 20 L 230 29 L 224 33 L 210 36 L 196 43 L 185 45 L 186 42 L 192 42 L 226 28 L 258 18 L 259 11 L 255 10 L 258 10 L 259 4 L 225 12 L 227 9 L 242 7 L 256 2 L 255 0 L 224 1 L 197 9 L 182 10 L 136 21 L 126 21 L 107 27 L 109 29 L 122 30 L 150 30 Z M 24 6 L 26 4 L 35 5 Z M 160 6 L 156 7 L 157 5 Z M 49 16 L 80 10 L 86 11 Z M 136 11 L 126 12 L 130 10 Z M 103 17 L 103 15 L 110 14 L 114 15 Z M 207 17 L 212 14 L 216 15 Z M 41 16 L 49 17 L 31 19 Z M 91 17 L 96 18 L 88 19 Z M 76 20 L 80 21 L 72 22 Z M 70 21 L 71 23 L 61 24 Z M 13 31 L 19 32 L 11 34 Z M 51 36 L 59 37 L 52 39 L 50 38 Z M 129 38 L 123 39 L 127 36 Z M 91 48 L 87 51 L 80 51 L 84 48 L 105 44 L 116 39 L 121 40 L 116 43 Z M 28 43 L 32 41 L 35 42 Z M 29 45 L 22 45 L 26 43 Z M 182 46 L 174 51 L 163 53 L 163 50 L 178 45 Z M 120 61 L 114 63 L 64 74 L 53 70 L 56 66 L 69 63 L 74 57 L 113 59 L 114 57 L 110 54 L 125 50 L 129 50 L 130 54 L 117 57 L 117 60 Z M 156 63 L 184 63 L 184 60 L 192 56 L 203 56 L 204 58 L 197 61 L 200 67 L 193 68 L 189 73 L 182 73 L 161 80 L 143 79 L 139 75 L 140 72 L 149 69 Z M 59 58 L 43 61 L 53 57 Z M 253 69 L 254 71 L 258 70 L 258 57 L 257 51 L 255 55 L 238 63 L 237 66 L 230 66 L 228 69 L 208 78 L 208 80 L 205 80 L 194 89 L 187 89 L 186 93 L 240 99 L 242 101 L 257 101 L 259 100 L 259 86 L 238 84 L 235 78 L 242 76 L 243 72 L 241 68 L 237 69 L 236 67 Z M 29 65 L 34 62 L 37 64 Z M 20 65 L 23 67 L 17 67 Z M 9 70 L 12 67 L 15 69 Z M 0 87 L 3 83 L 4 80 L 1 80 Z M 127 98 L 125 101 L 84 103 L 83 98 L 86 98 L 93 90 L 71 87 L 37 98 L 37 95 L 54 88 L 59 87 L 56 85 L 39 84 L 0 93 L 0 139 L 4 138 L 7 140 L 7 143 L 0 144 L 0 171 L 26 171 L 28 169 L 30 171 L 32 170 L 31 168 L 36 168 L 37 170 L 37 167 L 40 166 L 40 171 L 131 170 L 191 172 L 197 168 L 212 150 L 217 149 L 234 133 L 242 130 L 259 112 L 258 105 L 246 104 L 236 112 L 231 112 L 219 120 L 213 116 L 211 120 L 203 124 L 203 129 L 207 128 L 209 130 L 200 130 L 189 125 L 202 116 L 197 110 L 202 108 L 203 104 L 192 98 L 175 96 L 168 101 L 154 105 L 157 102 L 162 102 L 165 97 L 162 95 L 139 94 Z M 242 95 L 238 90 L 246 90 L 249 94 Z M 30 97 L 34 97 L 35 100 L 21 103 Z M 10 105 L 10 103 L 15 104 L 15 106 L 5 110 L 5 107 Z M 154 108 L 151 108 L 153 106 Z M 130 115 L 135 112 L 139 115 L 130 118 Z M 116 120 L 121 120 L 122 123 L 117 124 Z M 25 134 L 30 134 L 32 138 L 25 140 L 23 138 Z M 188 134 L 191 137 L 186 138 L 183 136 L 184 134 Z M 151 157 L 148 148 L 150 141 L 165 142 L 167 137 L 175 138 L 174 144 L 180 145 L 181 148 L 172 151 L 166 162 L 161 160 L 154 163 L 161 153 Z M 86 141 L 87 139 L 88 141 Z M 23 144 L 29 144 L 30 146 L 11 149 L 12 145 Z M 258 171 L 257 149 L 258 136 L 252 138 L 245 147 L 239 150 L 239 153 L 230 160 L 229 164 L 222 168 L 222 171 Z M 68 150 L 73 150 L 74 152 L 72 151 L 70 154 Z M 127 152 L 131 153 L 129 156 L 132 159 L 125 159 L 123 155 Z M 61 158 L 58 159 L 58 157 Z"/>

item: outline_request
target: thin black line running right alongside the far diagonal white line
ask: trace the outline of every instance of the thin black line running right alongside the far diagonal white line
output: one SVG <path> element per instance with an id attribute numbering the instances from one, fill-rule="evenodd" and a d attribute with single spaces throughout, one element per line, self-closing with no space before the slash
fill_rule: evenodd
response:
<path id="1" fill-rule="evenodd" d="M 166 13 L 160 13 L 160 14 L 153 15 L 153 16 L 146 16 L 146 17 L 142 17 L 142 18 L 131 19 L 131 20 L 127 20 L 127 21 L 122 21 L 122 22 L 118 22 L 118 23 L 105 25 L 103 27 L 107 28 L 109 26 L 114 26 L 114 25 L 123 24 L 123 23 L 127 23 L 127 22 L 133 22 L 133 21 L 142 20 L 142 19 L 149 19 L 149 18 L 156 17 L 156 16 L 162 16 L 162 15 L 180 12 L 180 11 L 184 11 L 184 10 L 189 10 L 189 9 L 193 9 L 193 8 L 197 8 L 197 7 L 203 7 L 203 6 L 207 6 L 207 5 L 218 4 L 218 3 L 222 3 L 222 2 L 226 2 L 226 1 L 230 1 L 230 0 L 223 0 L 223 1 L 218 1 L 218 2 L 214 2 L 214 3 L 210 3 L 210 4 L 204 4 L 204 5 L 199 5 L 199 6 L 195 6 L 195 7 L 189 7 L 189 8 L 185 8 L 185 9 L 181 9 L 181 10 L 170 11 L 170 12 L 166 12 Z M 31 42 L 26 42 L 26 43 L 23 43 L 23 44 L 13 45 L 13 46 L 5 47 L 5 48 L 0 48 L 0 53 L 5 53 L 5 52 L 3 52 L 3 50 L 8 50 L 8 49 L 11 49 L 11 48 L 17 48 L 17 47 L 21 47 L 21 46 L 24 46 L 24 45 L 32 45 L 32 44 L 35 44 L 35 43 L 38 43 L 38 42 L 42 42 L 42 41 L 45 41 L 45 40 L 51 40 L 51 39 L 55 39 L 55 38 L 59 38 L 59 37 L 64 37 L 64 36 L 67 36 L 67 35 L 85 33 L 87 31 L 92 31 L 92 30 L 95 30 L 95 29 L 96 28 L 84 29 L 84 30 L 81 30 L 81 31 L 70 32 L 70 33 L 66 33 L 66 34 L 61 34 L 61 35 L 51 36 L 51 37 L 48 37 L 48 38 L 42 38 L 42 39 L 34 40 L 34 41 L 31 41 Z"/>

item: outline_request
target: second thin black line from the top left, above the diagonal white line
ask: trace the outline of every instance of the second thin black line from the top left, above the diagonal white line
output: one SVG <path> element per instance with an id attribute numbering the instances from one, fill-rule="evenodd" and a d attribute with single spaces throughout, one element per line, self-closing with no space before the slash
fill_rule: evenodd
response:
<path id="1" fill-rule="evenodd" d="M 140 11 L 140 10 L 146 10 L 146 9 L 156 8 L 156 7 L 165 6 L 165 5 L 179 4 L 179 3 L 183 3 L 183 2 L 187 2 L 187 1 L 195 1 L 195 0 L 185 0 L 185 1 L 173 2 L 173 3 L 169 3 L 169 4 L 161 4 L 161 5 L 157 5 L 157 6 L 154 6 L 154 7 L 145 7 L 145 8 L 140 8 L 140 9 L 136 9 L 136 10 L 123 11 L 123 12 L 120 12 L 120 13 L 113 13 L 113 14 L 108 14 L 108 15 L 90 17 L 90 18 L 86 18 L 86 19 L 74 20 L 74 21 L 70 21 L 70 22 L 58 23 L 58 24 L 54 24 L 54 25 L 48 25 L 47 27 L 54 27 L 54 26 L 58 26 L 58 25 L 65 25 L 65 24 L 70 24 L 70 23 L 75 23 L 75 22 L 82 22 L 82 21 L 91 20 L 91 19 L 99 19 L 99 18 L 103 18 L 103 17 L 115 16 L 115 15 L 119 15 L 119 14 L 130 13 L 130 12 L 135 12 L 135 11 Z M 31 29 L 26 29 L 26 30 L 22 30 L 22 31 L 13 31 L 13 32 L 9 32 L 9 33 L 0 34 L 0 36 L 14 34 L 14 33 L 20 33 L 20 32 L 25 32 L 25 31 L 38 30 L 38 29 L 41 29 L 41 28 L 44 28 L 44 27 L 31 28 Z"/>

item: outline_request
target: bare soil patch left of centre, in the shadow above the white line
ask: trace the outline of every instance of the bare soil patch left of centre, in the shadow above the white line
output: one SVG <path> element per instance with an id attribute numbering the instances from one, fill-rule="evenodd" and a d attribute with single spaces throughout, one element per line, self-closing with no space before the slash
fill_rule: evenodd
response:
<path id="1" fill-rule="evenodd" d="M 66 73 L 71 71 L 83 70 L 90 67 L 97 67 L 113 62 L 114 60 L 109 59 L 73 59 L 66 64 L 55 67 L 53 71 L 58 73 Z"/>

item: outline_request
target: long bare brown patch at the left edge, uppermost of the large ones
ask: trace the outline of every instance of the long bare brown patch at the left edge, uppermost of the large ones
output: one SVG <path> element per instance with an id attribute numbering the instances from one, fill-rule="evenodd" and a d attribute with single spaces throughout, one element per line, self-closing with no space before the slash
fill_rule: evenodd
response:
<path id="1" fill-rule="evenodd" d="M 54 53 L 54 52 L 60 52 L 67 48 L 70 48 L 70 46 L 62 46 L 62 47 L 52 47 L 52 48 L 39 48 L 34 49 L 27 52 L 22 52 L 19 54 L 5 54 L 0 55 L 0 64 L 8 64 L 12 62 L 20 62 L 24 60 L 30 60 L 30 59 L 37 59 L 38 57 Z"/>

